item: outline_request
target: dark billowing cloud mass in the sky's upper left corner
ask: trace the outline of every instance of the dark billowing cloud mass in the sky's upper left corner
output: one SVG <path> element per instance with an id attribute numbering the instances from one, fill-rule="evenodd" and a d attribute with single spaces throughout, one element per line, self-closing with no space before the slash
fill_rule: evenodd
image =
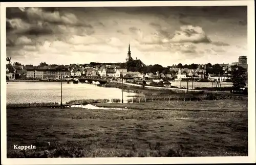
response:
<path id="1" fill-rule="evenodd" d="M 93 26 L 80 21 L 71 11 L 72 8 L 7 8 L 7 32 L 15 31 L 17 34 L 44 35 L 58 33 L 58 25 L 81 27 L 93 34 Z M 74 9 L 73 9 L 74 10 Z M 14 22 L 14 23 L 10 23 Z M 103 24 L 102 24 L 103 25 Z M 53 31 L 55 29 L 55 31 Z"/>

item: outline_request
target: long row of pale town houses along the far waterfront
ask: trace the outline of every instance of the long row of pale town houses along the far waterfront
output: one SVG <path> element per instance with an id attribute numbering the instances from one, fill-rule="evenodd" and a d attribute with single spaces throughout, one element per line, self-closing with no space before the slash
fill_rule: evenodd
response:
<path id="1" fill-rule="evenodd" d="M 223 64 L 224 65 L 224 64 Z M 225 66 L 223 66 L 225 67 Z M 102 66 L 84 66 L 79 64 L 70 65 L 47 65 L 47 66 L 33 66 L 33 65 L 7 65 L 7 77 L 9 79 L 15 79 L 15 75 L 19 78 L 28 79 L 60 79 L 60 78 L 75 78 L 75 77 L 101 77 L 101 78 L 124 78 L 129 79 L 173 79 L 182 80 L 187 78 L 195 79 L 216 79 L 215 75 L 206 75 L 206 69 L 188 69 L 188 68 L 170 68 L 172 74 L 162 73 L 139 73 L 139 72 L 127 72 L 127 69 L 120 68 L 114 65 L 102 65 Z M 174 72 L 173 72 L 174 71 Z M 127 76 L 126 76 L 127 75 Z M 228 76 L 221 76 L 221 81 L 227 79 Z M 218 78 L 217 78 L 218 79 Z"/>

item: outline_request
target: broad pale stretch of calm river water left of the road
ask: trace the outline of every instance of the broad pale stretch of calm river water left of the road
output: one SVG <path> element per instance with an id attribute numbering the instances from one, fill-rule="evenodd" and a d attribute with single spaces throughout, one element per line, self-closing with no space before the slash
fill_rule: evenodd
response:
<path id="1" fill-rule="evenodd" d="M 136 93 L 123 92 L 123 101 Z M 122 90 L 95 84 L 62 82 L 62 103 L 82 99 L 122 99 Z M 7 103 L 60 103 L 60 82 L 8 82 Z"/>

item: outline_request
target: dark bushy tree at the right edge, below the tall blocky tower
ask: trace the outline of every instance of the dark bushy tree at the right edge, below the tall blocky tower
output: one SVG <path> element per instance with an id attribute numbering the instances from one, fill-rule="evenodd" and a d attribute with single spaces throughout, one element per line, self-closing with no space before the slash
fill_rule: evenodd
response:
<path id="1" fill-rule="evenodd" d="M 232 66 L 232 77 L 233 88 L 239 89 L 246 85 L 247 74 L 246 70 L 241 66 Z"/>

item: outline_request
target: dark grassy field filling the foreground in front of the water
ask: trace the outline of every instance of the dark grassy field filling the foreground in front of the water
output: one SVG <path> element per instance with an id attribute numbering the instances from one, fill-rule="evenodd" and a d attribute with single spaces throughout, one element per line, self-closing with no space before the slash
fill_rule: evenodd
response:
<path id="1" fill-rule="evenodd" d="M 136 104 L 126 104 L 129 110 L 7 109 L 7 157 L 248 155 L 246 101 Z M 167 108 L 177 110 L 160 110 Z"/>

